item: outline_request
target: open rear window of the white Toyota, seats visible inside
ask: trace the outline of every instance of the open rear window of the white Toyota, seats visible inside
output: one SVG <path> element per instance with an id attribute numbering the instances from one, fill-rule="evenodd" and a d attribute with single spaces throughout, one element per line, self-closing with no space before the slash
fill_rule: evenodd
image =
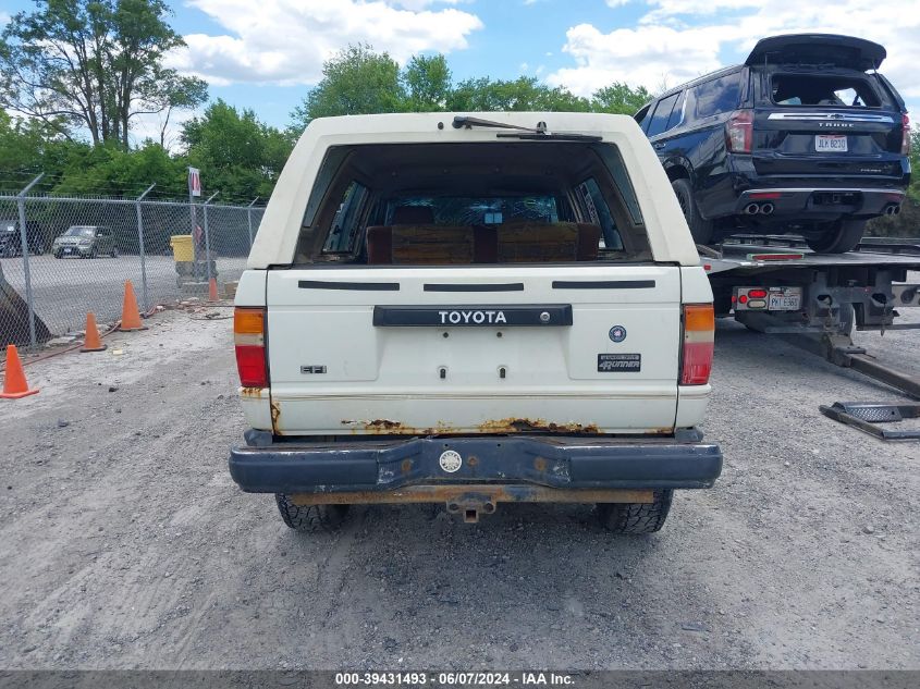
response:
<path id="1" fill-rule="evenodd" d="M 620 152 L 594 142 L 331 148 L 294 261 L 463 264 L 650 258 Z"/>

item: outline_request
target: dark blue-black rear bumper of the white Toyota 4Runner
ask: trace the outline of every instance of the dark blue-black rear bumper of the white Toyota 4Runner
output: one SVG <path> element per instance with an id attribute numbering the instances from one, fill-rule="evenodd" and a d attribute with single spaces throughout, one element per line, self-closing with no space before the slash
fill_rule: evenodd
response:
<path id="1" fill-rule="evenodd" d="M 532 485 L 566 491 L 710 488 L 722 471 L 721 450 L 702 443 L 698 434 L 690 440 L 378 436 L 354 442 L 300 439 L 259 445 L 231 451 L 230 473 L 244 491 L 327 496 L 392 493 L 392 502 L 421 502 L 416 496 L 420 490 L 404 489 L 430 485 Z M 540 491 L 519 491 L 513 500 L 524 502 L 528 495 L 537 496 L 535 502 L 547 500 L 540 497 L 547 495 Z"/>

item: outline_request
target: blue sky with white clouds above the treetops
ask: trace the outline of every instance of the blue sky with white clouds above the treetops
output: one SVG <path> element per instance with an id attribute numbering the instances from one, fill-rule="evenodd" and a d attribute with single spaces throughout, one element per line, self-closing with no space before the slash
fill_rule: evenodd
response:
<path id="1" fill-rule="evenodd" d="M 32 7 L 0 0 L 0 22 Z M 171 57 L 211 98 L 284 126 L 349 42 L 404 62 L 443 52 L 456 79 L 533 75 L 590 95 L 613 82 L 652 91 L 744 59 L 772 34 L 857 34 L 888 49 L 882 71 L 920 113 L 920 0 L 175 0 L 188 47 Z M 896 21 L 892 21 L 896 20 Z M 917 119 L 917 118 L 915 118 Z"/>

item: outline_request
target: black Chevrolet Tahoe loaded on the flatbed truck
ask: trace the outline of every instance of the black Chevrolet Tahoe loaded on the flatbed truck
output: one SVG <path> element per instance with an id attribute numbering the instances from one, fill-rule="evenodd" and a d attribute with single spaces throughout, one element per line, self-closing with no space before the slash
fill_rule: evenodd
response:
<path id="1" fill-rule="evenodd" d="M 884 59 L 861 38 L 774 36 L 639 110 L 697 244 L 795 233 L 838 254 L 899 212 L 909 125 Z"/>

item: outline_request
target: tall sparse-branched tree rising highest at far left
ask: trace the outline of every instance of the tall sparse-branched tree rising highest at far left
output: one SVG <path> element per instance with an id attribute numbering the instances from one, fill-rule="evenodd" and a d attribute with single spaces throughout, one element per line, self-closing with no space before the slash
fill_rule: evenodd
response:
<path id="1" fill-rule="evenodd" d="M 162 67 L 184 42 L 163 0 L 36 0 L 2 33 L 0 107 L 94 144 L 128 146 L 142 114 L 194 108 L 206 85 Z"/>

